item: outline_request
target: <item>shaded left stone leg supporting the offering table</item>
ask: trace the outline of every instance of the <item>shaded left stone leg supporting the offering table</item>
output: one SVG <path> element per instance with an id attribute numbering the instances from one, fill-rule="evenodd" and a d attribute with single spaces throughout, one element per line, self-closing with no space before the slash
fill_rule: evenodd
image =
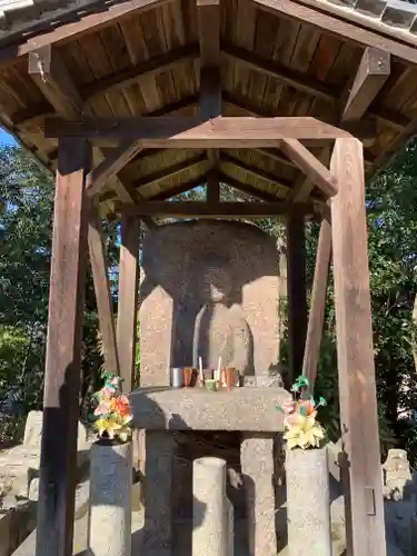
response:
<path id="1" fill-rule="evenodd" d="M 143 554 L 147 556 L 171 556 L 173 448 L 171 433 L 146 431 Z"/>

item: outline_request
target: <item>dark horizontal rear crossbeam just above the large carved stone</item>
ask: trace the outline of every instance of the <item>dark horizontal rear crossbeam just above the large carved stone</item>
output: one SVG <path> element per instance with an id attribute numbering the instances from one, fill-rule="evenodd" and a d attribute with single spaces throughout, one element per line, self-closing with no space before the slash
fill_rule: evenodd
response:
<path id="1" fill-rule="evenodd" d="M 276 202 L 218 202 L 208 205 L 201 201 L 139 201 L 137 205 L 119 205 L 117 209 L 127 215 L 146 215 L 172 218 L 274 218 L 286 215 L 291 205 L 286 201 Z M 299 211 L 308 212 L 310 205 L 298 207 Z"/>

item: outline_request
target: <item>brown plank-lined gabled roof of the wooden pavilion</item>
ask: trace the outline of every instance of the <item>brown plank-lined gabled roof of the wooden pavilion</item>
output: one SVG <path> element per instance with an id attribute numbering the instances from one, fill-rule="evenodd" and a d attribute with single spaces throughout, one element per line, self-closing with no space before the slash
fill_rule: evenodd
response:
<path id="1" fill-rule="evenodd" d="M 371 176 L 416 130 L 416 9 L 393 2 L 378 2 L 375 16 L 370 0 L 347 8 L 317 0 L 221 0 L 222 115 L 314 116 L 336 125 L 361 119 L 369 125 L 364 145 Z M 81 113 L 98 117 L 199 111 L 203 44 L 196 0 L 85 0 L 82 12 L 76 3 L 61 2 L 56 19 L 58 12 L 46 9 L 31 23 L 24 23 L 24 9 L 20 19 L 6 13 L 0 34 L 1 122 L 51 170 L 58 143 L 44 137 L 44 118 L 68 117 L 68 105 L 69 113 L 81 107 Z M 32 54 L 50 44 L 59 57 L 59 85 L 66 83 L 58 103 L 44 95 L 43 68 L 31 68 Z M 370 85 L 361 67 L 375 70 Z M 328 163 L 326 141 L 306 147 Z M 97 150 L 96 162 L 111 150 Z M 203 185 L 209 168 L 202 149 L 145 149 L 109 180 L 101 199 L 111 207 L 121 183 L 133 200 L 162 200 Z M 221 149 L 218 170 L 221 181 L 266 200 L 294 200 L 306 182 L 279 145 Z"/>

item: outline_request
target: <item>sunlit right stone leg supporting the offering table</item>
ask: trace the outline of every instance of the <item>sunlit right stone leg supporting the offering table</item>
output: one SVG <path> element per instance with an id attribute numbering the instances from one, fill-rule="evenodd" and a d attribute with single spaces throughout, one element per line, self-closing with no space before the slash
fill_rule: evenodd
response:
<path id="1" fill-rule="evenodd" d="M 275 556 L 274 435 L 244 434 L 240 463 L 247 496 L 249 554 Z"/>

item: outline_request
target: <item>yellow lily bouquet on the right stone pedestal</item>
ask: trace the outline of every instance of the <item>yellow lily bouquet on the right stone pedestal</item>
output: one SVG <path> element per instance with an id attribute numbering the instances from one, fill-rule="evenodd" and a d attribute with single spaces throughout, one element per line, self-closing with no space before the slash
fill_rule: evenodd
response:
<path id="1" fill-rule="evenodd" d="M 285 414 L 284 438 L 289 449 L 318 448 L 325 438 L 325 429 L 316 420 L 316 416 L 318 408 L 326 405 L 326 400 L 321 397 L 318 403 L 312 397 L 302 399 L 308 387 L 308 379 L 304 376 L 298 377 L 291 387 L 294 399 L 277 406 L 277 409 Z"/>

